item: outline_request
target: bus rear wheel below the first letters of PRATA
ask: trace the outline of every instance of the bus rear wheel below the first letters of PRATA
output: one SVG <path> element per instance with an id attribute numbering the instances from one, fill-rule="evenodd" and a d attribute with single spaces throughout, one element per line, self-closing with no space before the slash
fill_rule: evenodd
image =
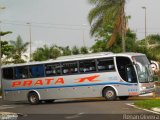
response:
<path id="1" fill-rule="evenodd" d="M 38 104 L 40 102 L 39 101 L 39 97 L 38 97 L 38 95 L 37 95 L 36 92 L 29 93 L 29 95 L 28 95 L 28 101 L 32 105 L 36 105 L 36 104 Z"/>

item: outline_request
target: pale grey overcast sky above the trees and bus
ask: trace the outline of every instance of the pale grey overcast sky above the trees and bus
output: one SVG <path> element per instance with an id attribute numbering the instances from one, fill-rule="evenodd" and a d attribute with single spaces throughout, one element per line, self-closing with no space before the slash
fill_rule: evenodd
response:
<path id="1" fill-rule="evenodd" d="M 160 0 L 126 0 L 125 12 L 131 16 L 129 28 L 138 39 L 145 36 L 144 9 L 147 8 L 147 34 L 160 34 Z M 74 45 L 91 47 L 95 38 L 90 36 L 87 20 L 91 6 L 87 0 L 0 0 L 0 28 L 13 33 L 2 37 L 16 40 L 20 35 L 29 42 L 31 24 L 32 51 L 44 44 L 50 46 Z"/>

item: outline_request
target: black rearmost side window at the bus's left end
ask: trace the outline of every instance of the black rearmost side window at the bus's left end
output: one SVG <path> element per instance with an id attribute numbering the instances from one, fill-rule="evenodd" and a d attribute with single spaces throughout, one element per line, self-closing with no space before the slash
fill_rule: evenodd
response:
<path id="1" fill-rule="evenodd" d="M 13 79 L 13 68 L 4 68 L 3 70 L 3 78 L 5 79 Z"/>

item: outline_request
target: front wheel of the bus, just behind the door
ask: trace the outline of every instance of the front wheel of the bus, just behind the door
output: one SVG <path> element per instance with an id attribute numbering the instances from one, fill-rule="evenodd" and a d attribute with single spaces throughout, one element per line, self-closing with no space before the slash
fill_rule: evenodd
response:
<path id="1" fill-rule="evenodd" d="M 117 95 L 116 92 L 113 88 L 108 87 L 105 88 L 103 91 L 103 97 L 107 100 L 107 101 L 113 101 L 117 99 Z"/>

